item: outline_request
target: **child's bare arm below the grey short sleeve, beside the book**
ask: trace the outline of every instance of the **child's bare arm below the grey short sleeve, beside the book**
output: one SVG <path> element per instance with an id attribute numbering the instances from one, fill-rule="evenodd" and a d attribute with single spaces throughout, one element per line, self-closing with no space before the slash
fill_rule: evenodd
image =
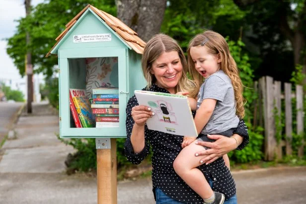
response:
<path id="1" fill-rule="evenodd" d="M 211 98 L 207 98 L 202 101 L 201 106 L 197 110 L 196 116 L 194 118 L 194 123 L 196 125 L 198 134 L 201 133 L 208 120 L 212 116 L 216 103 L 217 100 Z"/>

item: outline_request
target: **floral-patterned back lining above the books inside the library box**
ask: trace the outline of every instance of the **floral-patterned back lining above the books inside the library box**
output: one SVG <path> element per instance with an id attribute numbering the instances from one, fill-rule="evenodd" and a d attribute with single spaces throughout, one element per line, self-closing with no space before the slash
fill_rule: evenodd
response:
<path id="1" fill-rule="evenodd" d="M 86 96 L 99 87 L 118 87 L 118 57 L 86 58 Z"/>

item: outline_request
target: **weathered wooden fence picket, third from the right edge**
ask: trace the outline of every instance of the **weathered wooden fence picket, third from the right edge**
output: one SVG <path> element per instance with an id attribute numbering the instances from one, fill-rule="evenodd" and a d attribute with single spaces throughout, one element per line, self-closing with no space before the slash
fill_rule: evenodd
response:
<path id="1" fill-rule="evenodd" d="M 281 100 L 281 89 L 282 89 L 282 83 L 280 81 L 274 81 L 274 102 L 275 102 L 275 107 L 277 109 L 277 115 L 279 118 L 279 124 L 278 126 L 282 125 L 282 100 Z M 275 130 L 278 131 L 278 130 Z M 279 130 L 278 132 L 275 132 L 275 134 L 280 134 L 282 135 L 282 130 Z M 283 158 L 283 142 L 282 138 L 277 142 L 277 159 L 282 159 Z"/>

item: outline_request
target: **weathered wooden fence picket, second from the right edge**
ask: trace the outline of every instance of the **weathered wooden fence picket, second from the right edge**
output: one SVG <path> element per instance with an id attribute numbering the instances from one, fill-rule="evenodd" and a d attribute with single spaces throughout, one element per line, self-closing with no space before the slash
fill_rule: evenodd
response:
<path id="1" fill-rule="evenodd" d="M 291 83 L 285 83 L 285 131 L 286 131 L 286 155 L 292 155 L 292 101 Z"/>

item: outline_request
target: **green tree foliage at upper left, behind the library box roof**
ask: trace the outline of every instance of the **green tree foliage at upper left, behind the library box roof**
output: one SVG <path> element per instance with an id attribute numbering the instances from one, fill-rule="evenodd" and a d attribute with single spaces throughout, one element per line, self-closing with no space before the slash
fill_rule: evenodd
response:
<path id="1" fill-rule="evenodd" d="M 6 52 L 21 75 L 24 75 L 24 57 L 28 51 L 32 53 L 35 72 L 43 72 L 47 76 L 53 74 L 58 59 L 53 55 L 45 56 L 56 43 L 56 37 L 66 28 L 65 25 L 88 3 L 116 15 L 114 0 L 49 0 L 34 7 L 29 16 L 17 20 L 17 31 L 8 39 Z M 28 46 L 25 42 L 26 31 L 31 38 Z"/>

